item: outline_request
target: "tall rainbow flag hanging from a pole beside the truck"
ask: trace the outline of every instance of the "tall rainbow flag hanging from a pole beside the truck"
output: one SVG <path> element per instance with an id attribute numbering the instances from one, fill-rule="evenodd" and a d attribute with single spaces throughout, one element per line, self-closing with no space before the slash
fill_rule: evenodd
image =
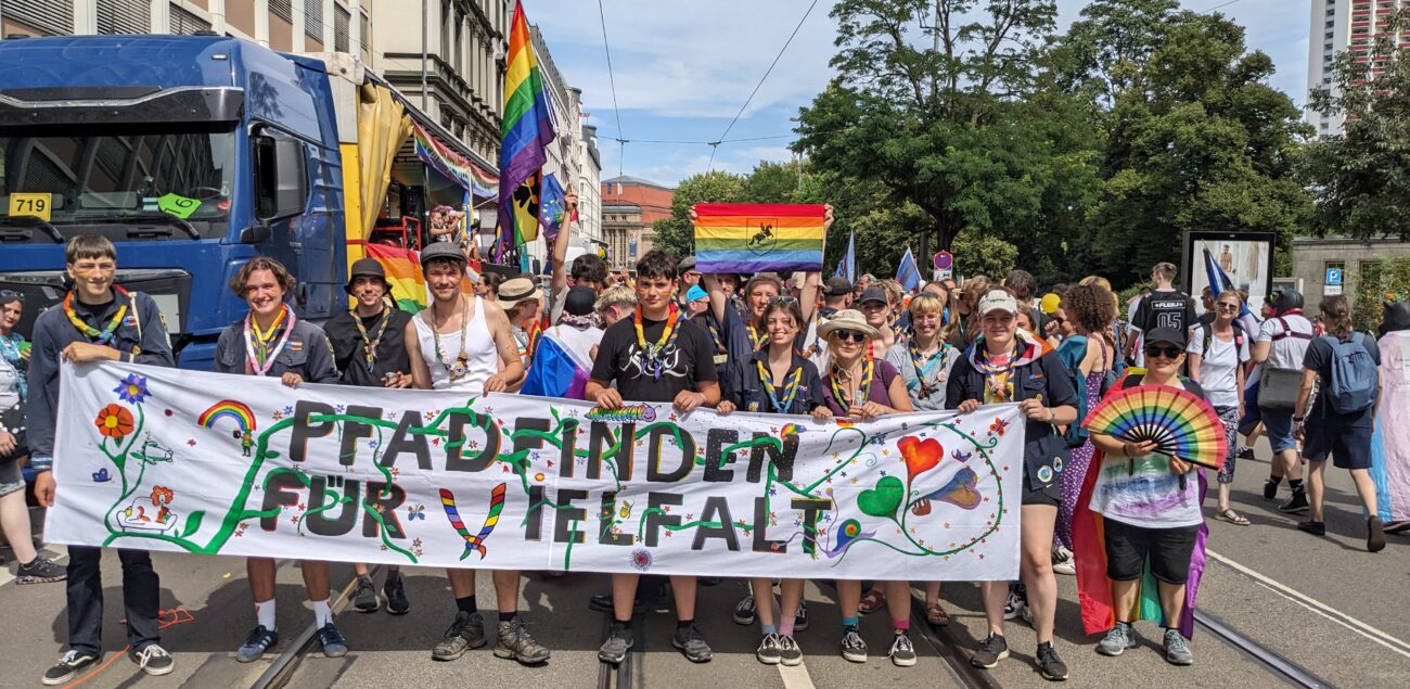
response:
<path id="1" fill-rule="evenodd" d="M 515 0 L 505 71 L 503 141 L 499 147 L 499 246 L 522 246 L 539 237 L 539 169 L 557 133 L 548 110 L 539 61 L 529 38 L 529 20 Z"/>

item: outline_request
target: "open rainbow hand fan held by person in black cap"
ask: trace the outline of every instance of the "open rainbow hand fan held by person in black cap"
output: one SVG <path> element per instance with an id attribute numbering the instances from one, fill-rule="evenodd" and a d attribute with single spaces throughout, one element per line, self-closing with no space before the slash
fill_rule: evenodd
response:
<path id="1" fill-rule="evenodd" d="M 1193 393 L 1166 385 L 1112 393 L 1081 425 L 1121 441 L 1152 441 L 1160 455 L 1210 469 L 1222 469 L 1228 453 L 1224 422 L 1214 407 Z"/>

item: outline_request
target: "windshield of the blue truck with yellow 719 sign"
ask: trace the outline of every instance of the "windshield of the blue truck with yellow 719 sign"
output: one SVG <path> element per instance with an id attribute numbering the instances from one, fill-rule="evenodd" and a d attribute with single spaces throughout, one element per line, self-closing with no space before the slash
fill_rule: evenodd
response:
<path id="1" fill-rule="evenodd" d="M 171 224 L 175 237 L 192 230 L 220 237 L 228 226 L 234 152 L 233 126 L 85 127 L 82 136 L 0 131 L 0 227 L 38 223 L 72 236 L 142 223 Z M 32 241 L 49 241 L 47 232 L 35 232 Z M 118 227 L 113 232 L 121 236 Z"/>

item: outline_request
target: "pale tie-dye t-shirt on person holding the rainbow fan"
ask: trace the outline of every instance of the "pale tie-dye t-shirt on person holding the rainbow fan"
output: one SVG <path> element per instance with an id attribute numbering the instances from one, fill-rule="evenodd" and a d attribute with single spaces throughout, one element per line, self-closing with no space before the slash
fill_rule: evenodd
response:
<path id="1" fill-rule="evenodd" d="M 1170 472 L 1170 457 L 1165 455 L 1105 457 L 1087 507 L 1108 520 L 1142 528 L 1193 527 L 1204 521 L 1198 477 L 1186 473 L 1182 489 L 1180 476 Z"/>

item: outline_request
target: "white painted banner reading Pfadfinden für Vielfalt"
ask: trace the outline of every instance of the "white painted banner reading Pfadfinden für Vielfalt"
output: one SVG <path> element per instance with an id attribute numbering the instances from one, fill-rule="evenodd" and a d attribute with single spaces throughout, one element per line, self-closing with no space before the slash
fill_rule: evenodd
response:
<path id="1" fill-rule="evenodd" d="M 502 569 L 1012 579 L 1017 405 L 869 422 L 66 364 L 55 542 Z"/>

